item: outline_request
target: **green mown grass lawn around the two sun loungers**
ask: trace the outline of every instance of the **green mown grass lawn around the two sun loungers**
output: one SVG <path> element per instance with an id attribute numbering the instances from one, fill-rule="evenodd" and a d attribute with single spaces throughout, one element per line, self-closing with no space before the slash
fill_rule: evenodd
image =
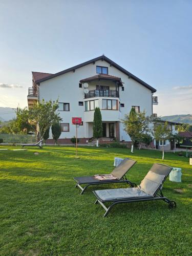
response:
<path id="1" fill-rule="evenodd" d="M 167 178 L 163 188 L 176 209 L 163 201 L 121 204 L 103 218 L 93 187 L 79 196 L 73 177 L 110 173 L 115 156 L 131 157 L 137 163 L 127 178 L 139 184 L 153 163 L 162 163 L 160 152 L 79 147 L 76 159 L 74 147 L 13 148 L 0 151 L 1 255 L 191 255 L 189 159 L 165 153 L 163 163 L 183 170 L 182 183 Z M 95 188 L 108 187 L 126 185 Z"/>

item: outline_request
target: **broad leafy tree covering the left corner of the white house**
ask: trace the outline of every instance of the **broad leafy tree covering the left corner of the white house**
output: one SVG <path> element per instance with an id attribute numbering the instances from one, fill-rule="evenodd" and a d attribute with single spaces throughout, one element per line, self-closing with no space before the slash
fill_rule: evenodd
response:
<path id="1" fill-rule="evenodd" d="M 42 101 L 35 103 L 33 108 L 29 110 L 30 119 L 37 123 L 40 138 L 44 137 L 48 127 L 53 123 L 58 123 L 62 120 L 60 118 L 58 109 L 58 101 L 52 102 L 42 99 Z"/>

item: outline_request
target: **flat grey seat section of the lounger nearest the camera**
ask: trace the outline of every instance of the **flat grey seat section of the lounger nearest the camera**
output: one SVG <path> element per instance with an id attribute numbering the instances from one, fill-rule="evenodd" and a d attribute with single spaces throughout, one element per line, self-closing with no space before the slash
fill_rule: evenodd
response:
<path id="1" fill-rule="evenodd" d="M 137 187 L 95 190 L 94 194 L 102 201 L 151 197 Z"/>

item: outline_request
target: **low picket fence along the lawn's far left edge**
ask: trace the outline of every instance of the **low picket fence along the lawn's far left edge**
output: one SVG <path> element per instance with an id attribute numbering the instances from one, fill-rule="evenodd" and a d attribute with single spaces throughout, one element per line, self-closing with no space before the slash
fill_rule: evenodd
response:
<path id="1" fill-rule="evenodd" d="M 3 143 L 19 144 L 19 143 L 35 143 L 37 141 L 36 135 L 30 134 L 1 134 L 0 139 L 3 139 Z"/>

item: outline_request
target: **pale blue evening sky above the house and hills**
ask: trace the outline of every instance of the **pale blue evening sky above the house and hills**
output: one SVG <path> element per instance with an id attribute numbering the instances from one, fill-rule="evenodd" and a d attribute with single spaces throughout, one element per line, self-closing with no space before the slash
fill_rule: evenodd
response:
<path id="1" fill-rule="evenodd" d="M 157 89 L 158 116 L 192 114 L 191 0 L 0 0 L 0 106 L 27 106 L 31 71 L 102 54 Z"/>

